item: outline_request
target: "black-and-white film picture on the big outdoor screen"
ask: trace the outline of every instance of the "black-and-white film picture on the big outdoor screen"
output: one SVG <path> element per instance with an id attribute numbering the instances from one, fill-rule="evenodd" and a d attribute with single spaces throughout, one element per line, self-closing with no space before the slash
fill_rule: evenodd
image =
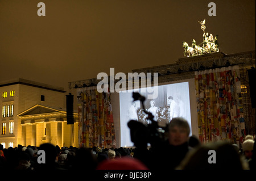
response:
<path id="1" fill-rule="evenodd" d="M 144 106 L 147 111 L 154 115 L 160 127 L 169 123 L 172 117 L 184 117 L 191 127 L 191 112 L 189 102 L 188 82 L 172 83 L 158 86 L 158 96 L 155 99 L 148 99 L 147 88 L 133 90 L 145 96 Z M 139 100 L 133 102 L 133 93 L 127 91 L 119 92 L 120 102 L 120 127 L 121 146 L 134 146 L 130 139 L 130 129 L 127 127 L 129 120 L 138 120 L 144 124 L 150 123 L 147 115 L 142 111 Z"/>

